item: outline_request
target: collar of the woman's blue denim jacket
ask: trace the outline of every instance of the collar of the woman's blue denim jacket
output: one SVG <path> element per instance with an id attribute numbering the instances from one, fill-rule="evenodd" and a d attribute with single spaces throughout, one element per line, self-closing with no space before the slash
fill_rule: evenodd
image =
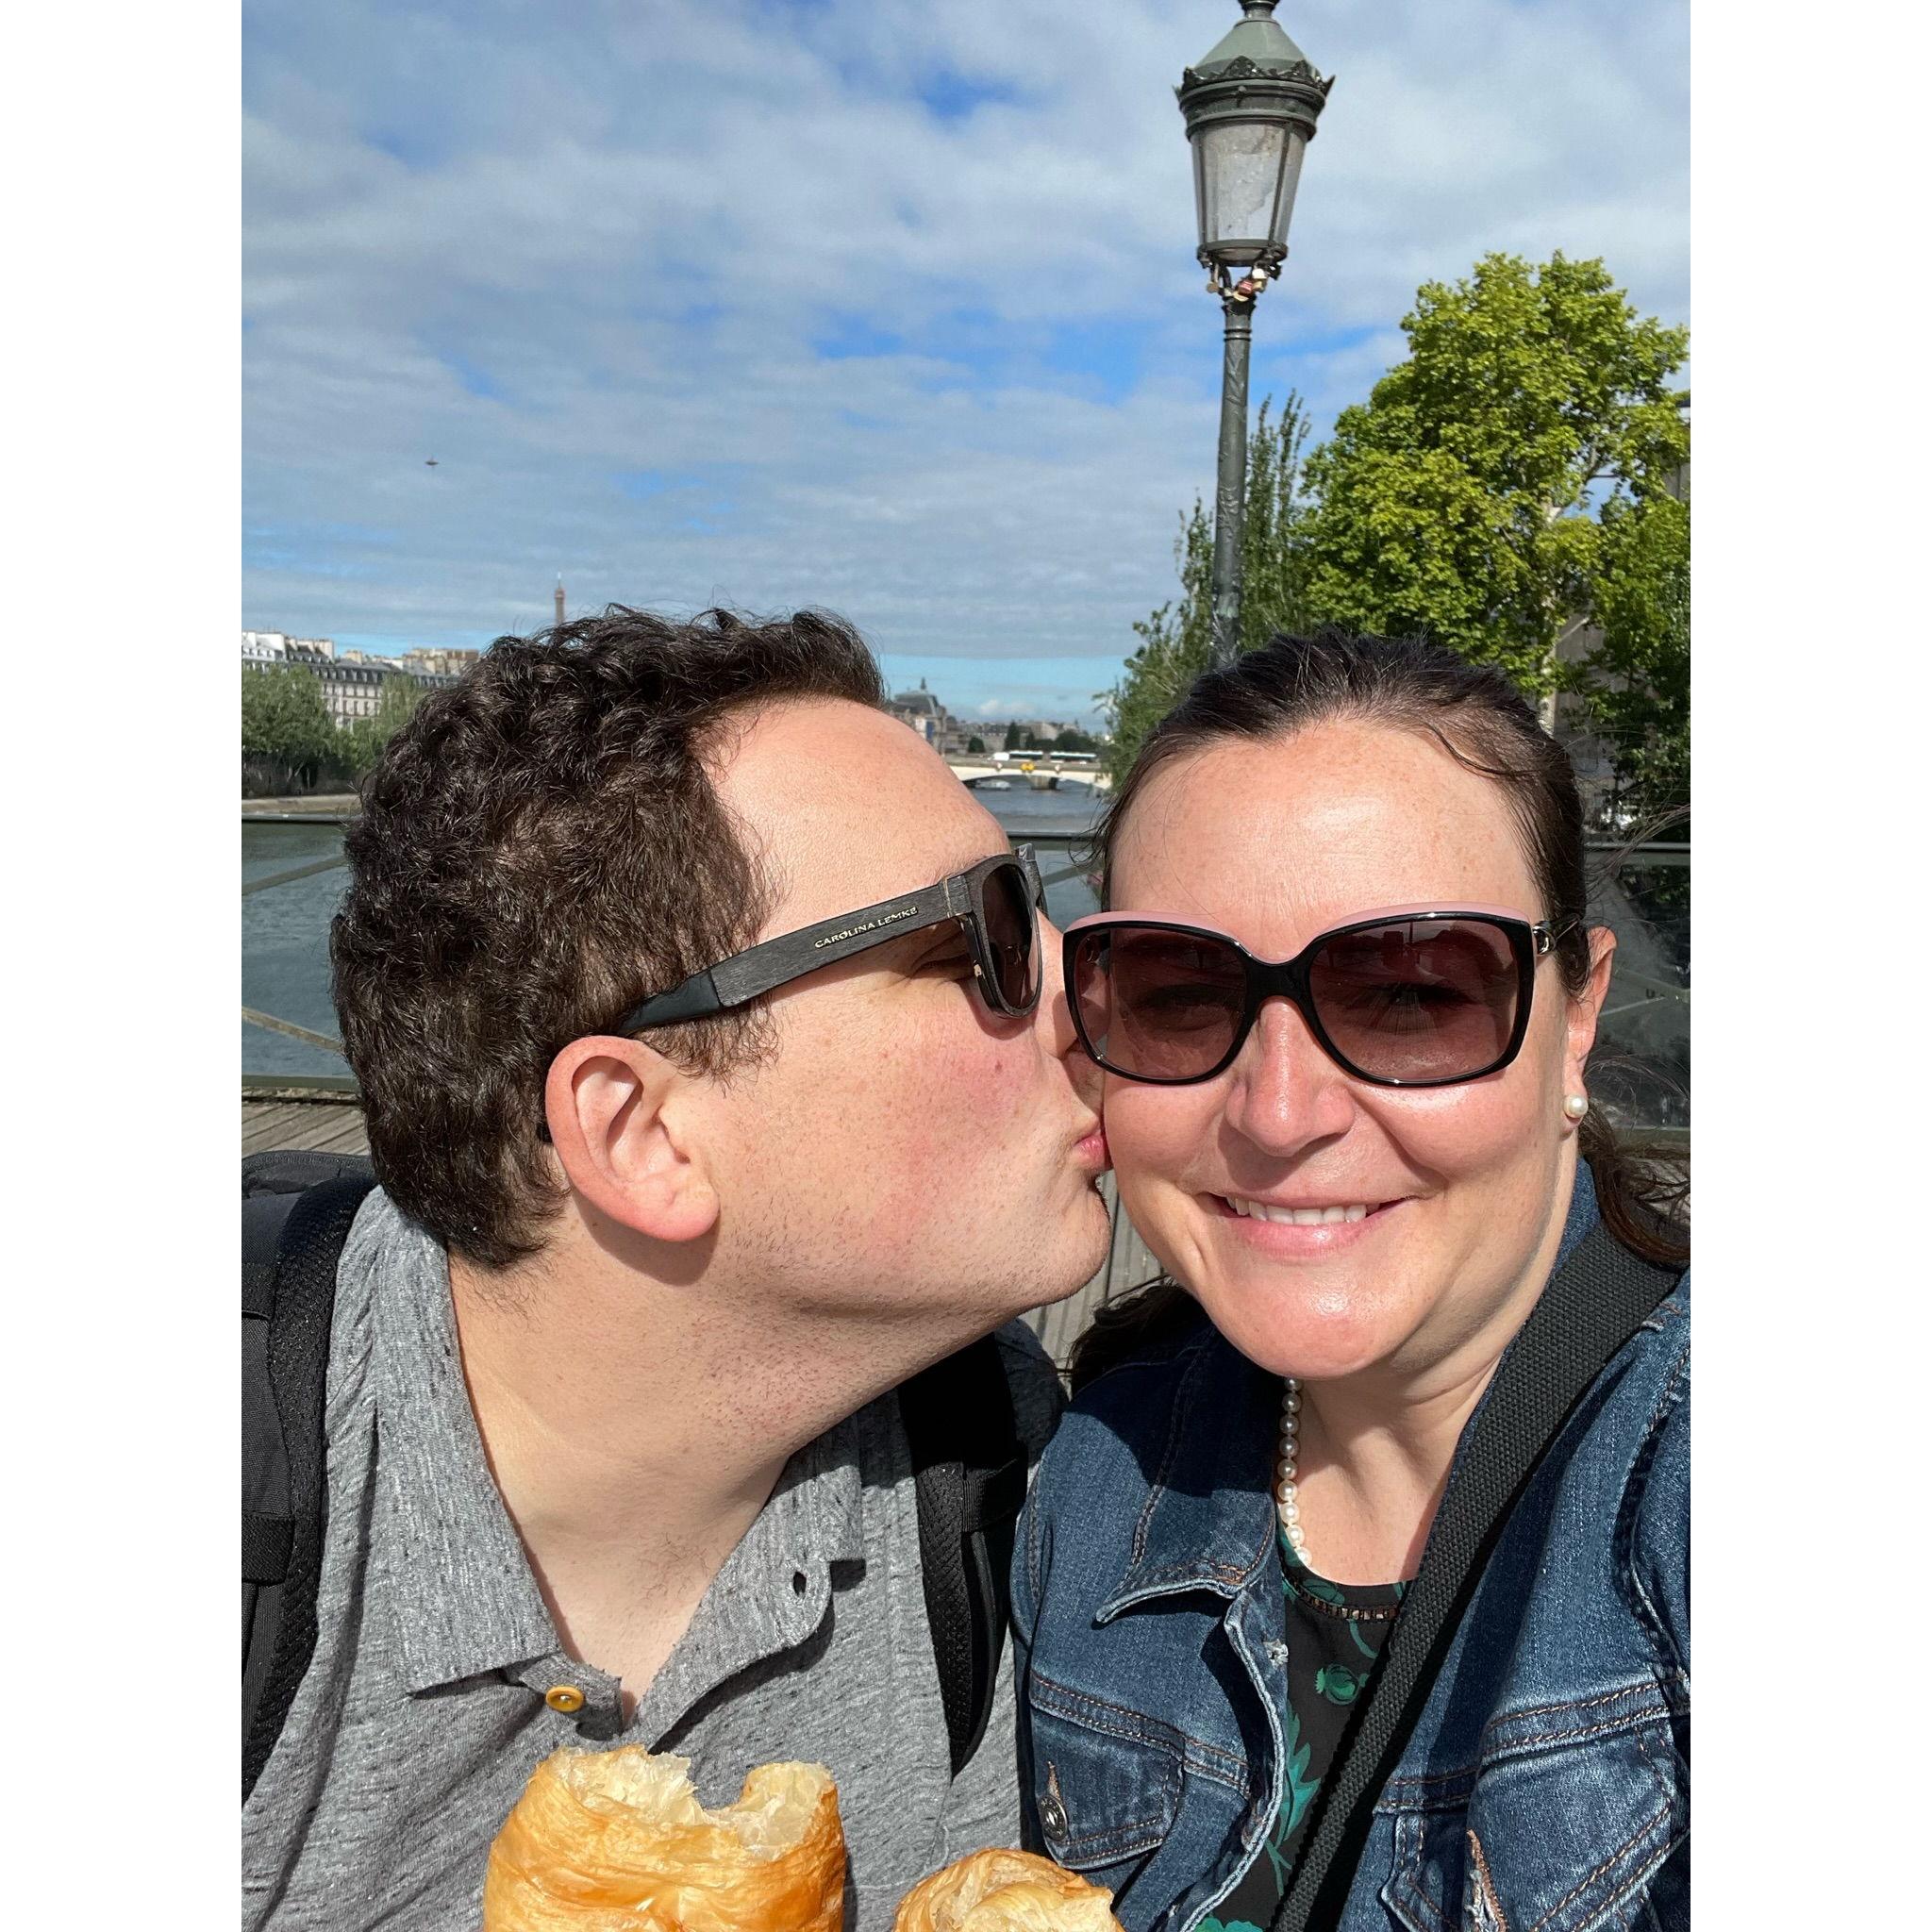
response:
<path id="1" fill-rule="evenodd" d="M 1571 1258 L 1596 1221 L 1590 1165 L 1578 1161 L 1555 1267 Z M 1463 1428 L 1457 1463 L 1488 1399 L 1484 1391 Z M 1134 1524 L 1126 1569 L 1095 1611 L 1095 1623 L 1109 1623 L 1148 1598 L 1184 1590 L 1235 1598 L 1254 1580 L 1275 1544 L 1269 1478 L 1279 1422 L 1279 1378 L 1256 1368 L 1202 1318 L 1200 1333 L 1180 1352 L 1167 1441 Z"/>

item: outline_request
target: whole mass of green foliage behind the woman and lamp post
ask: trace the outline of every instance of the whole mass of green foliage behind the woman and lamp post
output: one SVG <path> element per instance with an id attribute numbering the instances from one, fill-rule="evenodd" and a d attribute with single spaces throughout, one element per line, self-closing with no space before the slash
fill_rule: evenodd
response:
<path id="1" fill-rule="evenodd" d="M 1602 261 L 1486 255 L 1430 282 L 1408 355 L 1343 410 L 1306 464 L 1300 400 L 1267 404 L 1248 454 L 1240 647 L 1320 622 L 1426 636 L 1493 663 L 1526 697 L 1578 692 L 1640 811 L 1689 796 L 1690 431 L 1671 379 L 1689 334 L 1644 319 Z M 1134 626 L 1099 696 L 1124 777 L 1209 659 L 1213 527 L 1175 545 L 1180 597 Z M 1602 645 L 1559 645 L 1596 622 Z"/>

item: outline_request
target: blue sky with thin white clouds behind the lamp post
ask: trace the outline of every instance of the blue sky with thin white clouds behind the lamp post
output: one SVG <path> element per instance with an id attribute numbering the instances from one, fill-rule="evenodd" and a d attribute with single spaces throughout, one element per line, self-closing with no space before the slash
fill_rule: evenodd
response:
<path id="1" fill-rule="evenodd" d="M 404 649 L 827 605 L 1072 717 L 1211 485 L 1180 70 L 1235 0 L 249 0 L 243 624 Z M 1254 396 L 1416 284 L 1604 255 L 1689 321 L 1685 0 L 1285 0 L 1335 89 Z M 437 458 L 435 468 L 427 458 Z"/>

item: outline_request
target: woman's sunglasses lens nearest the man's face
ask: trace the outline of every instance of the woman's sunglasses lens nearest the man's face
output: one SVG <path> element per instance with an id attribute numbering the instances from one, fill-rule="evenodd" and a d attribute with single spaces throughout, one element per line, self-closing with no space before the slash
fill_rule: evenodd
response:
<path id="1" fill-rule="evenodd" d="M 1240 954 L 1223 941 L 1101 925 L 1080 935 L 1072 968 L 1082 1039 L 1117 1074 L 1200 1080 L 1235 1043 L 1248 981 Z"/>

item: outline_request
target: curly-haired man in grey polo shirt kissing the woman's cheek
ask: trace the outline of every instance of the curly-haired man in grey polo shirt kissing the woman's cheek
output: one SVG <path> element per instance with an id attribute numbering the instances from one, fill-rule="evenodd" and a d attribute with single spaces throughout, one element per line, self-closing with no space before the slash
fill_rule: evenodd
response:
<path id="1" fill-rule="evenodd" d="M 348 858 L 381 1186 L 245 1924 L 473 1924 L 535 1764 L 630 1743 L 709 1804 L 827 1764 L 885 1926 L 1018 1841 L 1010 1658 L 956 1762 L 895 1391 L 997 1331 L 1037 1455 L 1012 1318 L 1107 1244 L 1037 875 L 838 620 L 622 607 L 425 699 Z"/>

